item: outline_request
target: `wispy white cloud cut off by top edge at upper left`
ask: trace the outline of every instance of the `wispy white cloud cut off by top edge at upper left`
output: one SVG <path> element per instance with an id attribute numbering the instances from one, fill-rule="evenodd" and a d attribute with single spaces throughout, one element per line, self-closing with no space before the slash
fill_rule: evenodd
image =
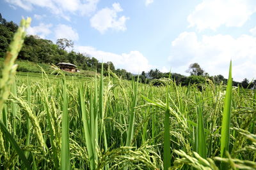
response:
<path id="1" fill-rule="evenodd" d="M 51 13 L 59 17 L 66 18 L 69 13 L 79 13 L 80 15 L 90 15 L 97 8 L 99 0 L 5 0 L 11 6 L 18 6 L 26 11 L 34 10 L 35 7 L 47 8 Z"/>

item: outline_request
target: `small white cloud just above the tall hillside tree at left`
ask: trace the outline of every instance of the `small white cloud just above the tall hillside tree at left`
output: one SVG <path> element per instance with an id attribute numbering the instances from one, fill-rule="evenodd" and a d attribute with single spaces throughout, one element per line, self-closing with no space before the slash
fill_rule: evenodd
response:
<path id="1" fill-rule="evenodd" d="M 72 27 L 64 24 L 59 24 L 54 29 L 55 38 L 67 38 L 71 39 L 73 41 L 77 41 L 79 39 L 79 36 Z"/>

